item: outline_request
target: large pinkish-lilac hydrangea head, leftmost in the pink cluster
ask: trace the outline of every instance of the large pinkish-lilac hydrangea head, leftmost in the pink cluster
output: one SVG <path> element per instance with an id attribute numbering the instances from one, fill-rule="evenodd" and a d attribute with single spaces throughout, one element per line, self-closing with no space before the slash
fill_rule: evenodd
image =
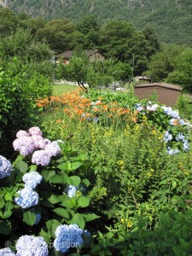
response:
<path id="1" fill-rule="evenodd" d="M 32 154 L 35 149 L 35 144 L 32 140 L 32 137 L 19 137 L 15 139 L 13 143 L 15 151 L 20 151 L 20 154 L 27 156 Z"/>

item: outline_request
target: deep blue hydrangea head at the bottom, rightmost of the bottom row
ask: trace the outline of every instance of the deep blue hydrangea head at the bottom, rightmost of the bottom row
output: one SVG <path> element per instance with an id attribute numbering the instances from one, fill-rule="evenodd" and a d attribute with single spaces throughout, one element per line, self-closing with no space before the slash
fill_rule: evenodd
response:
<path id="1" fill-rule="evenodd" d="M 80 247 L 84 242 L 82 234 L 83 230 L 77 224 L 63 224 L 58 226 L 55 230 L 55 250 L 66 253 L 70 247 Z"/>

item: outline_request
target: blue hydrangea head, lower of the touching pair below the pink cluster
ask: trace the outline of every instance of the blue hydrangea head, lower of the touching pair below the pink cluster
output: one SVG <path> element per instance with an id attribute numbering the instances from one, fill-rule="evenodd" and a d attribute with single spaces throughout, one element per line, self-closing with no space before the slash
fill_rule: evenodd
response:
<path id="1" fill-rule="evenodd" d="M 17 192 L 20 197 L 15 197 L 15 203 L 23 209 L 34 207 L 38 204 L 38 193 L 26 187 Z"/>

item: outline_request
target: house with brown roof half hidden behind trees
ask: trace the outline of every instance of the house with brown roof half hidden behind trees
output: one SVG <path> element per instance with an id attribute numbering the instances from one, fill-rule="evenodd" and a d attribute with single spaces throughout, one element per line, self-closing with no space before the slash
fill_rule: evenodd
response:
<path id="1" fill-rule="evenodd" d="M 105 57 L 97 49 L 88 49 L 84 50 L 85 54 L 88 55 L 90 62 L 92 61 L 104 61 Z M 59 63 L 59 59 L 63 59 L 63 63 L 68 64 L 70 58 L 73 55 L 73 50 L 67 50 L 61 53 L 60 55 L 55 55 L 56 63 Z"/>

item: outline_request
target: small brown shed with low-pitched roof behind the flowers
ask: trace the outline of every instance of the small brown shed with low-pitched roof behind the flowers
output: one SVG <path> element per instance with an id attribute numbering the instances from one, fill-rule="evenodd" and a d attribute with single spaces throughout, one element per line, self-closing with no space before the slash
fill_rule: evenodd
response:
<path id="1" fill-rule="evenodd" d="M 155 92 L 157 100 L 166 106 L 172 106 L 177 102 L 178 96 L 182 95 L 183 88 L 173 84 L 153 83 L 153 84 L 139 84 L 134 87 L 135 95 L 140 100 L 153 95 Z"/>

